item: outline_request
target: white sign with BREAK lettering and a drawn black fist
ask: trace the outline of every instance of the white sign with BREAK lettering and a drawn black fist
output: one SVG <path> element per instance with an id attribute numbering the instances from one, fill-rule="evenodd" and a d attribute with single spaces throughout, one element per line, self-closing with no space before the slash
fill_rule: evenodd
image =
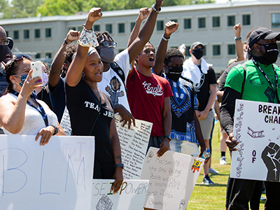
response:
<path id="1" fill-rule="evenodd" d="M 230 176 L 240 179 L 279 181 L 280 104 L 237 100 L 235 139 Z"/>

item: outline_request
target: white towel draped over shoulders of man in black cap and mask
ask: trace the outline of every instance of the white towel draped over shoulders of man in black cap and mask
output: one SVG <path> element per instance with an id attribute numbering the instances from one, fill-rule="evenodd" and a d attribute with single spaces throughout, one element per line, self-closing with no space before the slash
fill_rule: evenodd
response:
<path id="1" fill-rule="evenodd" d="M 207 74 L 209 66 L 213 66 L 213 64 L 207 64 L 206 60 L 202 57 L 200 66 L 202 73 Z M 193 81 L 193 83 L 200 83 L 200 68 L 198 68 L 198 66 L 193 63 L 192 57 L 186 59 L 186 61 L 183 63 L 182 76 Z"/>

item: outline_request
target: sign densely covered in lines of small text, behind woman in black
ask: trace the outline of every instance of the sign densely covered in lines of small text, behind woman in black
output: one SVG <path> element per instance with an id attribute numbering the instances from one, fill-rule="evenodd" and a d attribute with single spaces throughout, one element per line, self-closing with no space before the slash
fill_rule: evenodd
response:
<path id="1" fill-rule="evenodd" d="M 119 115 L 115 115 L 115 119 L 122 160 L 125 165 L 123 177 L 124 179 L 140 179 L 153 123 L 135 120 L 136 126 L 131 126 L 129 130 L 127 125 L 122 127 L 123 123 L 120 123 Z"/>

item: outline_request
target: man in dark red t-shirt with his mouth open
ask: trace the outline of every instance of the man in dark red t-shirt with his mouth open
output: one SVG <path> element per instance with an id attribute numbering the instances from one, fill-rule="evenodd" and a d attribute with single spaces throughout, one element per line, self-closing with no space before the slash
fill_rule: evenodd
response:
<path id="1" fill-rule="evenodd" d="M 173 94 L 168 81 L 151 71 L 155 65 L 155 48 L 151 43 L 146 43 L 136 59 L 138 69 L 133 68 L 127 77 L 127 98 L 134 118 L 153 123 L 148 148 L 160 148 L 160 157 L 169 150 Z"/>

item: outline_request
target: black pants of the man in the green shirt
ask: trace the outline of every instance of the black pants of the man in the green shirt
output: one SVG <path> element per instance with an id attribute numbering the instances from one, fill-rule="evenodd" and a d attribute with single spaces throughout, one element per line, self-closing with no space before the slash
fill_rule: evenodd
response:
<path id="1" fill-rule="evenodd" d="M 248 202 L 251 200 L 253 190 L 258 181 L 248 179 L 234 179 L 229 200 L 229 210 L 248 210 Z M 280 183 L 265 181 L 265 210 L 280 208 Z"/>

